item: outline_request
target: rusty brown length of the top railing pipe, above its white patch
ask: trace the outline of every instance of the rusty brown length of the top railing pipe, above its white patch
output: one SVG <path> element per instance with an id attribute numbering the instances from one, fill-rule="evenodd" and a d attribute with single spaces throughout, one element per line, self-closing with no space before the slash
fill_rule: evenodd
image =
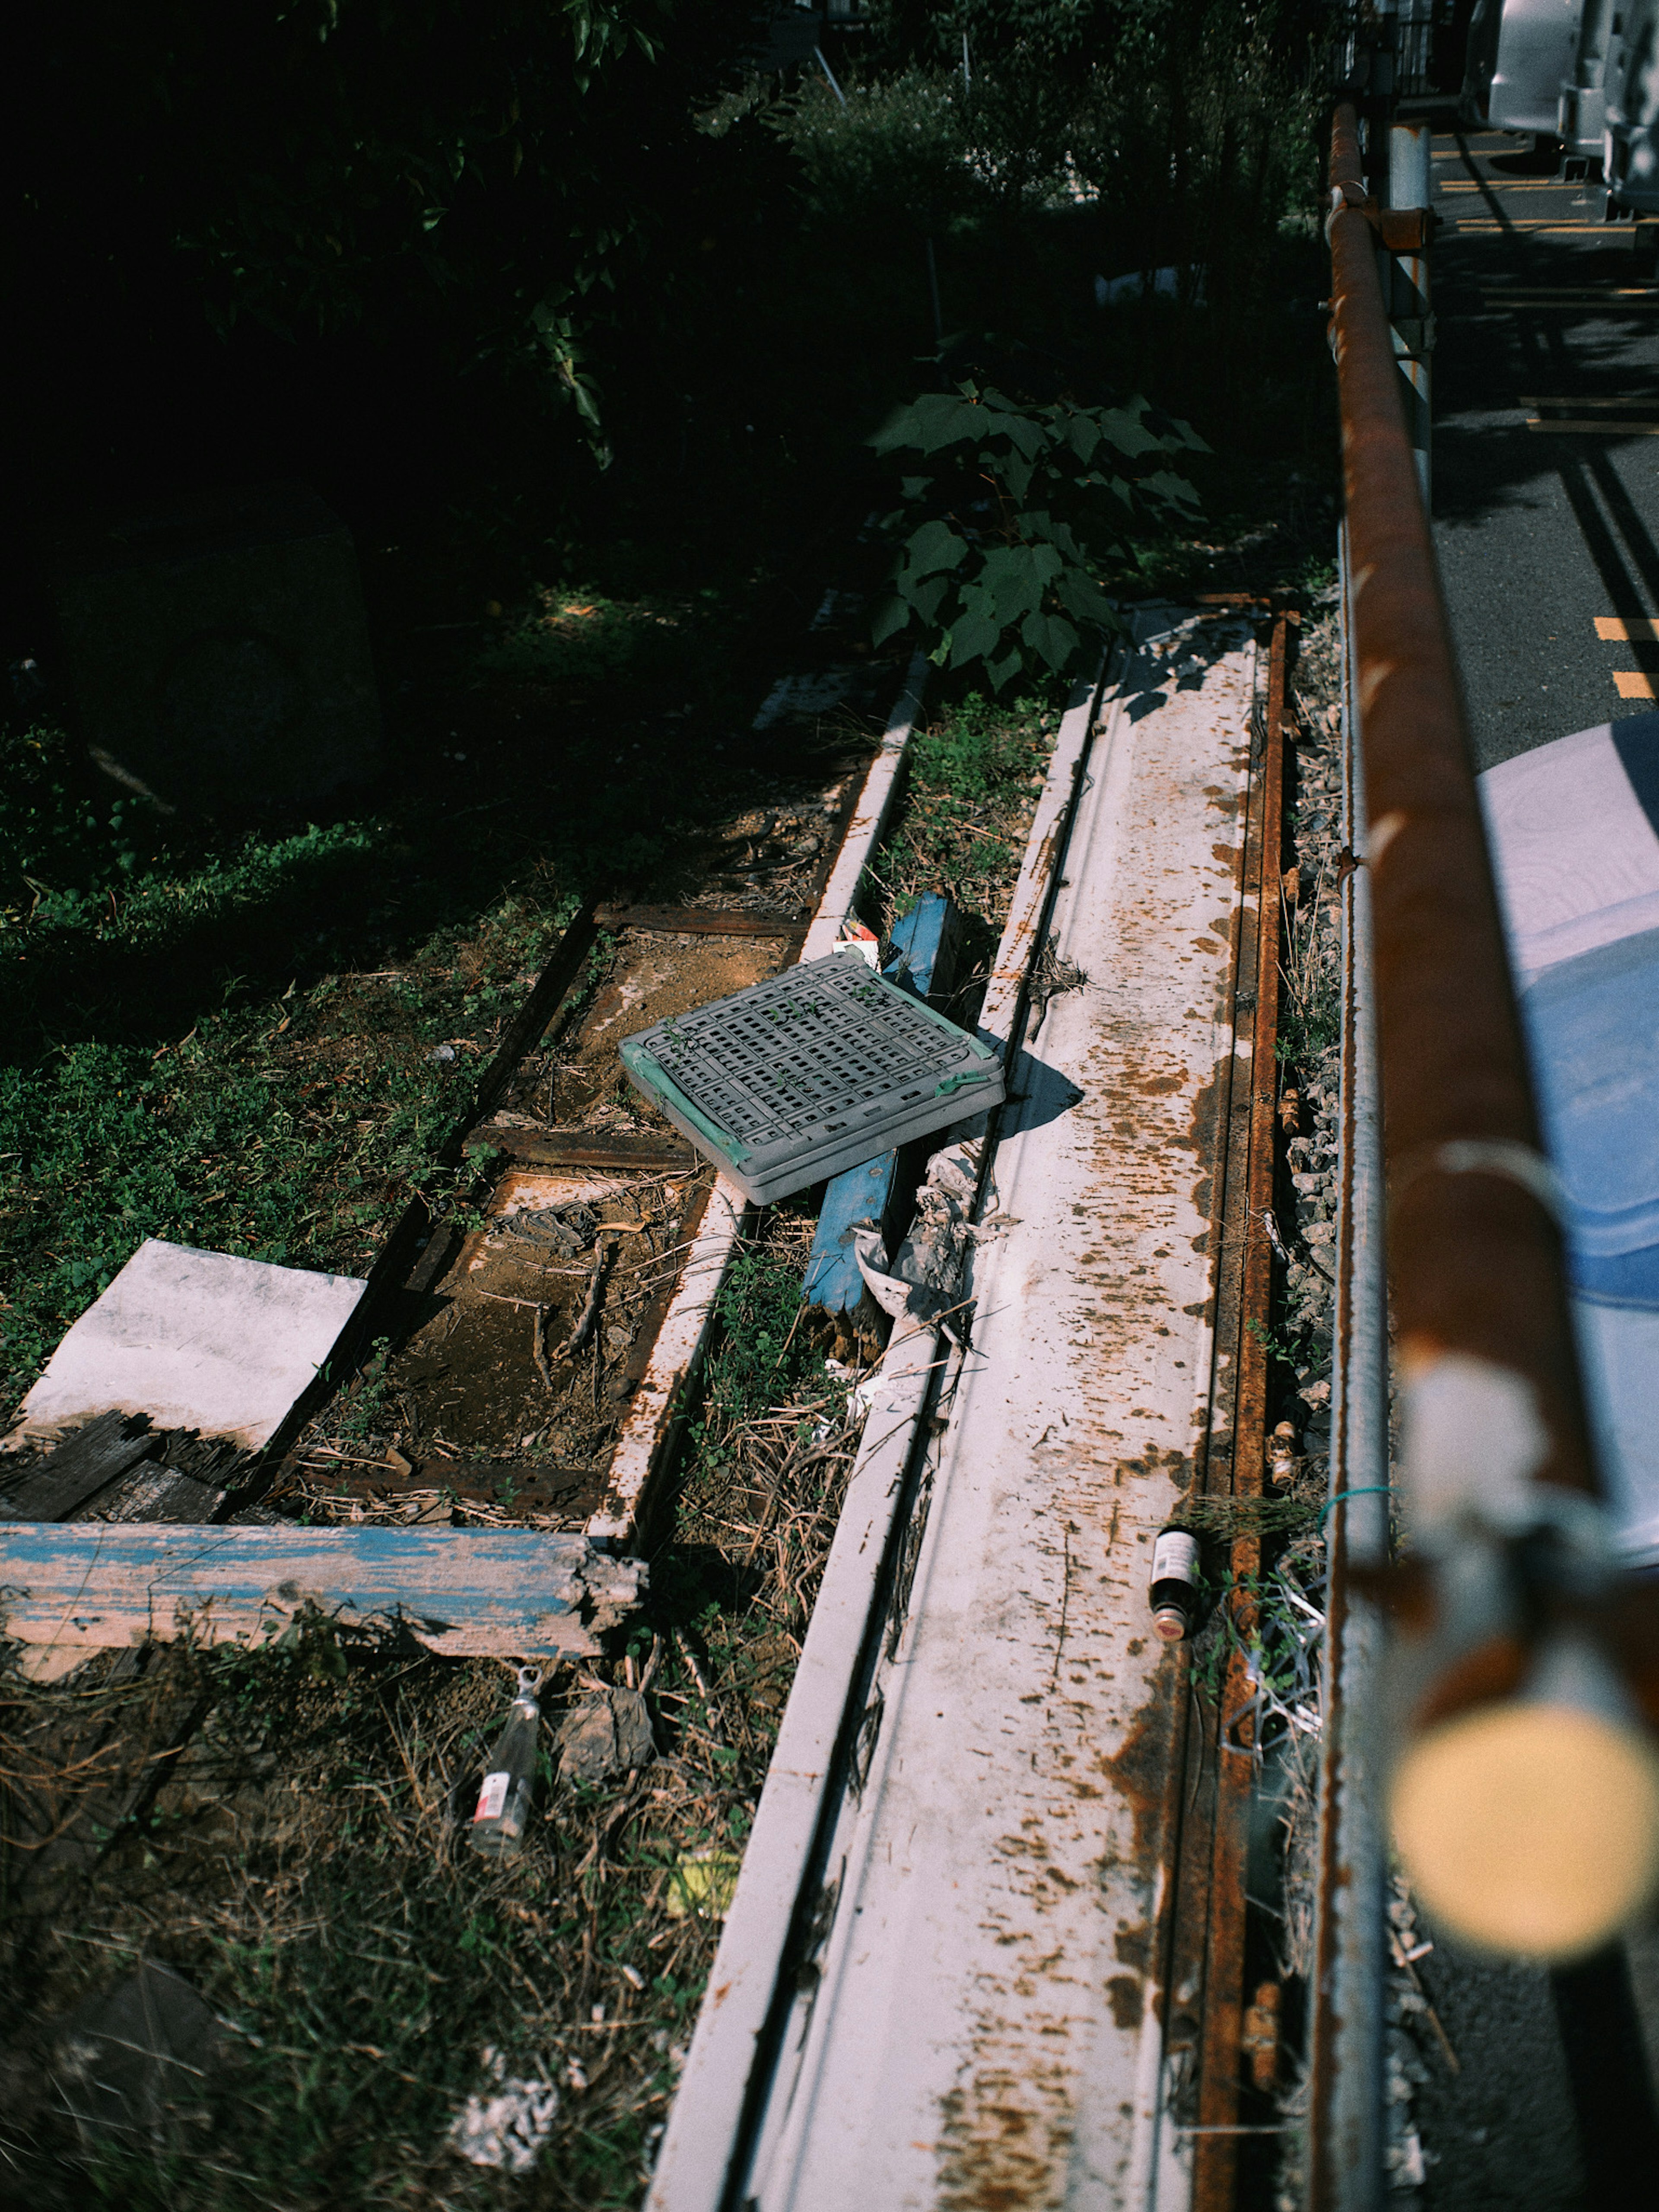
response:
<path id="1" fill-rule="evenodd" d="M 1400 405 L 1358 126 L 1332 126 L 1332 310 L 1389 1168 L 1407 1380 L 1469 1356 L 1520 1376 L 1535 1480 L 1599 1495 L 1462 695 Z"/>

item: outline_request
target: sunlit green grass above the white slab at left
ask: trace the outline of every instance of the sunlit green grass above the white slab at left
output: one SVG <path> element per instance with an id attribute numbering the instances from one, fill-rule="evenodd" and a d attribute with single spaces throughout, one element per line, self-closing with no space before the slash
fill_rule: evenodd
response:
<path id="1" fill-rule="evenodd" d="M 268 847 L 254 858 L 281 865 Z M 206 867 L 135 905 L 257 900 L 250 878 Z M 82 1035 L 0 1066 L 4 1402 L 146 1237 L 363 1274 L 416 1190 L 451 1199 L 436 1150 L 568 907 L 504 900 L 465 969 L 440 933 L 398 978 L 323 975 L 279 995 L 230 978 L 175 1042 Z M 451 1057 L 434 1060 L 445 1040 L 458 1040 Z"/>

